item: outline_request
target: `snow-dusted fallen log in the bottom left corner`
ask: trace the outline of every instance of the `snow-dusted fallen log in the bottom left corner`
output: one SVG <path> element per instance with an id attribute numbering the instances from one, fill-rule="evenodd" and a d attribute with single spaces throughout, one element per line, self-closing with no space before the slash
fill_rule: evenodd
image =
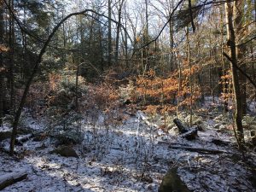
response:
<path id="1" fill-rule="evenodd" d="M 0 190 L 8 187 L 13 183 L 17 183 L 26 179 L 27 173 L 26 170 L 20 170 L 18 172 L 9 172 L 0 176 Z"/>

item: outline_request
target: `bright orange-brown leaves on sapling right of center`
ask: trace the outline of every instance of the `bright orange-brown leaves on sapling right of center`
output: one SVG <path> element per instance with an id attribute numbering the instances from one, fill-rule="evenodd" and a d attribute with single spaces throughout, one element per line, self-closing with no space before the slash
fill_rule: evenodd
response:
<path id="1" fill-rule="evenodd" d="M 178 73 L 174 72 L 169 77 L 159 77 L 154 70 L 149 70 L 145 75 L 138 76 L 136 79 L 137 102 L 143 100 L 143 105 L 147 106 L 148 113 L 173 112 L 177 106 L 174 102 L 179 97 L 180 106 L 189 106 L 201 96 L 201 89 L 198 84 L 193 84 L 193 92 L 190 93 L 189 75 L 193 75 L 200 70 L 198 66 L 193 66 L 191 71 L 188 66 L 182 71 L 180 88 L 178 91 Z"/>

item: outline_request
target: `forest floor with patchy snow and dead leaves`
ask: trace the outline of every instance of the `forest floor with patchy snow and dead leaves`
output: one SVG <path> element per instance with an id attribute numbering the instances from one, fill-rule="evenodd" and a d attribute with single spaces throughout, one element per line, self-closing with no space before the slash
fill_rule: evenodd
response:
<path id="1" fill-rule="evenodd" d="M 83 142 L 71 146 L 79 158 L 49 153 L 55 149 L 49 137 L 17 146 L 15 157 L 0 152 L 0 175 L 20 169 L 28 173 L 3 191 L 158 191 L 172 168 L 190 191 L 256 191 L 255 149 L 245 154 L 237 150 L 231 119 L 221 114 L 194 116 L 202 129 L 189 141 L 178 135 L 175 125 L 169 131 L 160 129 L 163 118 L 152 120 L 141 111 L 123 115 L 119 125 L 108 127 L 101 124 L 102 114 L 96 124 L 84 117 Z M 187 116 L 182 113 L 180 119 Z M 45 130 L 44 120 L 32 119 L 29 113 L 25 117 L 27 127 Z M 255 119 L 251 123 L 256 124 Z M 1 131 L 9 131 L 9 125 Z M 9 148 L 9 139 L 1 145 Z"/>

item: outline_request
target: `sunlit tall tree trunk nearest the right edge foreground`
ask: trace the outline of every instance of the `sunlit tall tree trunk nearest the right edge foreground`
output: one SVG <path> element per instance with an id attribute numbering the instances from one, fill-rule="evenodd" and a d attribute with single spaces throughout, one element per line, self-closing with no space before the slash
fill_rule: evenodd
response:
<path id="1" fill-rule="evenodd" d="M 227 38 L 228 46 L 230 49 L 230 68 L 232 73 L 232 83 L 234 90 L 234 99 L 235 99 L 235 128 L 236 128 L 236 140 L 239 148 L 242 148 L 244 143 L 243 128 L 241 125 L 242 118 L 242 106 L 241 106 L 241 89 L 239 84 L 238 72 L 236 69 L 237 66 L 237 57 L 236 57 L 236 35 L 233 27 L 233 13 L 231 2 L 228 0 L 225 3 L 225 14 L 227 22 Z"/>

